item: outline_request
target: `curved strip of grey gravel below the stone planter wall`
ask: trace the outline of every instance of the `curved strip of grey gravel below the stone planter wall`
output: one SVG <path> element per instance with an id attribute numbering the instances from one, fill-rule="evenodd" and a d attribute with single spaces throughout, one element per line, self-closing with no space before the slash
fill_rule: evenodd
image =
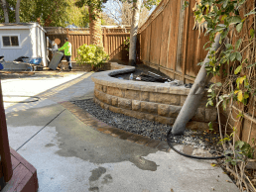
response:
<path id="1" fill-rule="evenodd" d="M 93 99 L 71 101 L 71 103 L 77 105 L 109 126 L 153 140 L 167 141 L 167 133 L 172 128 L 168 125 L 147 120 L 139 120 L 123 114 L 117 114 L 109 110 L 104 110 L 95 104 Z M 171 140 L 176 144 L 192 145 L 194 148 L 202 147 L 203 149 L 208 149 L 211 153 L 222 152 L 222 146 L 218 144 L 218 134 L 209 131 L 202 132 L 186 130 L 183 136 L 175 136 L 172 137 Z"/>

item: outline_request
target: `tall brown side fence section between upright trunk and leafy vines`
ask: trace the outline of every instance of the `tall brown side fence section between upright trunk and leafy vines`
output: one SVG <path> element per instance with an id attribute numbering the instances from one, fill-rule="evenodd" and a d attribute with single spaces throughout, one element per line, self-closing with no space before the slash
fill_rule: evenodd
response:
<path id="1" fill-rule="evenodd" d="M 206 55 L 202 47 L 208 37 L 198 39 L 198 31 L 192 30 L 195 0 L 185 11 L 184 1 L 163 0 L 139 29 L 140 59 L 172 78 L 192 82 L 199 70 L 197 63 Z"/>

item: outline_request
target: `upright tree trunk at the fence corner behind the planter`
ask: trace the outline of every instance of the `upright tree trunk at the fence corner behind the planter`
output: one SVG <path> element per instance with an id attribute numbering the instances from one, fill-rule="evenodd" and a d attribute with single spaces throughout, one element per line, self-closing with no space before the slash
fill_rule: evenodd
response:
<path id="1" fill-rule="evenodd" d="M 129 64 L 135 66 L 136 64 L 136 43 L 137 43 L 137 33 L 140 20 L 140 10 L 141 10 L 142 0 L 137 0 L 133 3 L 133 13 L 132 13 L 132 26 L 130 32 L 130 48 L 129 48 Z"/>

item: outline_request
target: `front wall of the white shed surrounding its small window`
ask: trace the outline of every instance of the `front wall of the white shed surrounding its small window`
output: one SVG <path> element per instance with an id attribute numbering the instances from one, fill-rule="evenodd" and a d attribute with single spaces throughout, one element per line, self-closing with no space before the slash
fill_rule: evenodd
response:
<path id="1" fill-rule="evenodd" d="M 32 39 L 29 29 L 4 30 L 0 29 L 1 34 L 20 34 L 21 48 L 2 48 L 0 39 L 0 55 L 4 55 L 5 60 L 12 61 L 19 56 L 33 57 Z"/>

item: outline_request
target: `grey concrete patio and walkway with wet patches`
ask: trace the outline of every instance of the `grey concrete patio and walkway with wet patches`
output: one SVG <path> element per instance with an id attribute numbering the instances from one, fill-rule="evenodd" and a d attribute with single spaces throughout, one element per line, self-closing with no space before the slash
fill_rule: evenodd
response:
<path id="1" fill-rule="evenodd" d="M 93 96 L 90 76 L 2 81 L 5 95 L 41 97 L 5 106 L 10 145 L 37 168 L 40 192 L 239 191 L 212 160 L 97 131 L 90 117 L 64 104 Z"/>

